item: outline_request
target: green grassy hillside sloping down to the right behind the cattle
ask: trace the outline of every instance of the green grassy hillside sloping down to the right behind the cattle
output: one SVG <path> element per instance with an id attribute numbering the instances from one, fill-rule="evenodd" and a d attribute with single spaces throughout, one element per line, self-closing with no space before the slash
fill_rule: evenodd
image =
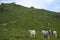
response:
<path id="1" fill-rule="evenodd" d="M 28 37 L 29 29 L 36 30 L 35 39 Z M 60 37 L 60 13 L 14 3 L 0 5 L 0 40 L 42 40 L 42 29 L 56 30 Z"/>

